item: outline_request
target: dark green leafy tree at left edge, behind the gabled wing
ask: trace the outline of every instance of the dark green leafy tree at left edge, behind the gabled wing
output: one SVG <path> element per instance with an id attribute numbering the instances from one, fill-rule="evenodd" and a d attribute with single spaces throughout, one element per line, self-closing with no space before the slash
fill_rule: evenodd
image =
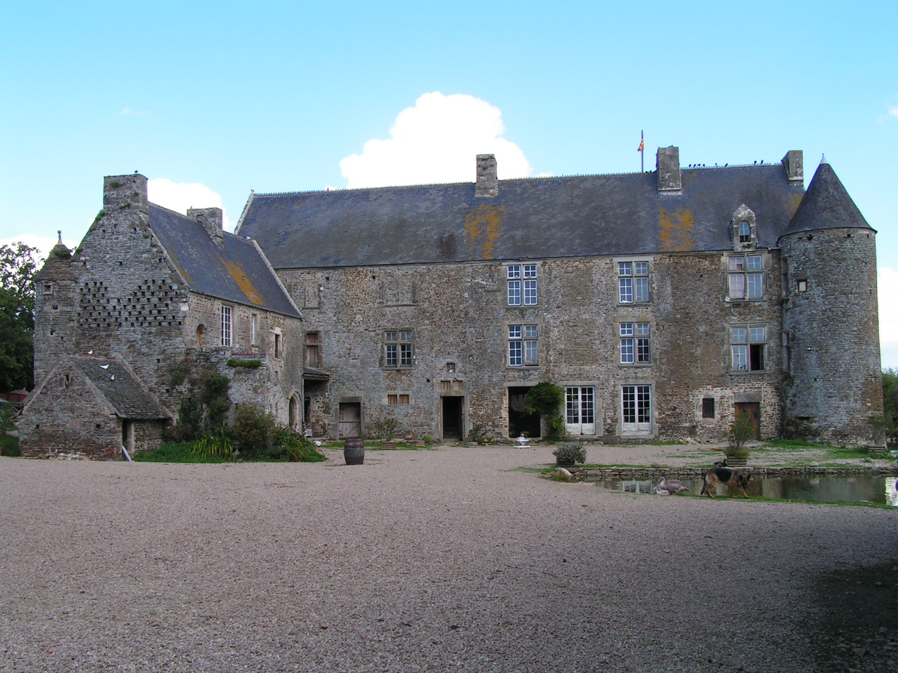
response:
<path id="1" fill-rule="evenodd" d="M 0 246 L 0 390 L 34 386 L 34 276 L 40 250 Z"/>

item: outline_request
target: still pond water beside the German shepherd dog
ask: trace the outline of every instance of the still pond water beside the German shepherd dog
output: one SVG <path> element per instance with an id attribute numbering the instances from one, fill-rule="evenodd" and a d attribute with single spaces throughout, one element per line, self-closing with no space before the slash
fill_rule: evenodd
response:
<path id="1" fill-rule="evenodd" d="M 600 479 L 594 483 L 605 491 L 651 494 L 660 479 Z M 680 479 L 691 494 L 701 493 L 701 479 Z M 745 489 L 749 496 L 774 500 L 804 500 L 815 503 L 876 503 L 898 507 L 898 478 L 894 476 L 763 476 L 753 477 Z M 715 496 L 729 496 L 729 488 L 718 484 Z M 736 489 L 738 497 L 742 492 Z"/>

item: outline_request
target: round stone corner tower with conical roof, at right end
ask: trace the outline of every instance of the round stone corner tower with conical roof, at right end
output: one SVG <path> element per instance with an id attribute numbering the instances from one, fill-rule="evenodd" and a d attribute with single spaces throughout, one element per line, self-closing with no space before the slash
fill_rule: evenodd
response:
<path id="1" fill-rule="evenodd" d="M 822 439 L 870 443 L 883 410 L 876 232 L 825 158 L 786 232 L 784 415 Z"/>

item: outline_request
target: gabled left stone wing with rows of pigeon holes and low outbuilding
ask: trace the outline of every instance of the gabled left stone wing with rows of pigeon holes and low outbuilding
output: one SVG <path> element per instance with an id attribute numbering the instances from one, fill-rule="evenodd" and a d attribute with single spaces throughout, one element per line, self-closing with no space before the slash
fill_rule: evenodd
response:
<path id="1" fill-rule="evenodd" d="M 105 179 L 103 210 L 84 240 L 71 255 L 58 244 L 38 277 L 39 394 L 23 411 L 25 455 L 78 450 L 108 459 L 120 457 L 128 442 L 135 450 L 158 446 L 191 385 L 178 371 L 212 368 L 231 379 L 235 404 L 260 406 L 285 424 L 301 420 L 299 312 L 260 249 L 222 232 L 221 219 L 216 208 L 185 217 L 149 204 L 144 176 Z M 78 394 L 68 361 L 85 354 L 128 363 L 164 418 L 126 417 L 139 409 L 122 411 Z M 228 364 L 241 359 L 261 366 Z M 45 385 L 66 376 L 73 388 Z"/>

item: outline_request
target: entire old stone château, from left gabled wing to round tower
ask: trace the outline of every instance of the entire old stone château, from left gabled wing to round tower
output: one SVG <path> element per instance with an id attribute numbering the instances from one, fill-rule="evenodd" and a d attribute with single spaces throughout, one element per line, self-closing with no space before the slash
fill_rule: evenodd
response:
<path id="1" fill-rule="evenodd" d="M 252 194 L 235 235 L 147 204 L 142 176 L 106 180 L 82 245 L 40 273 L 30 455 L 156 437 L 185 360 L 333 438 L 387 419 L 537 436 L 541 381 L 569 435 L 604 441 L 719 440 L 744 411 L 758 437 L 868 443 L 882 411 L 876 232 L 825 160 L 805 189 L 801 152 L 682 168 L 667 147 L 653 172 L 510 180 L 479 155 L 473 184 Z M 263 366 L 228 370 L 242 354 Z"/>

